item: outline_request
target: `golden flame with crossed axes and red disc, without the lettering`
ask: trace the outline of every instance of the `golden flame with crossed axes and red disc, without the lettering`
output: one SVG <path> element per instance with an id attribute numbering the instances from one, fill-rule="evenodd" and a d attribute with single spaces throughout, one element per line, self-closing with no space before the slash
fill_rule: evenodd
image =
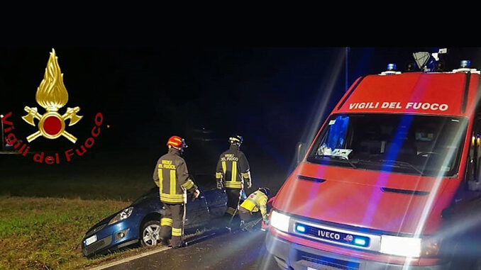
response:
<path id="1" fill-rule="evenodd" d="M 37 108 L 30 108 L 25 106 L 24 110 L 28 113 L 23 116 L 28 124 L 35 126 L 35 120 L 38 119 L 38 131 L 27 137 L 28 142 L 35 140 L 37 137 L 43 136 L 48 139 L 56 139 L 64 136 L 70 142 L 77 142 L 74 135 L 65 131 L 65 121 L 70 119 L 70 125 L 75 125 L 83 116 L 77 116 L 80 107 L 67 108 L 67 111 L 60 115 L 57 111 L 67 104 L 69 95 L 67 89 L 63 84 L 63 74 L 60 72 L 60 65 L 58 64 L 58 57 L 55 55 L 55 50 L 50 52 L 47 67 L 45 68 L 45 75 L 43 76 L 40 86 L 38 86 L 35 100 L 38 105 L 45 108 L 47 113 L 41 115 Z"/>

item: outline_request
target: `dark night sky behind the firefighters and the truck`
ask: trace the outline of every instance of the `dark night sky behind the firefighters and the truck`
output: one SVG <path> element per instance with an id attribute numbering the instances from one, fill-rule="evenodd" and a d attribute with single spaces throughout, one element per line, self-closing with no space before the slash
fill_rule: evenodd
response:
<path id="1" fill-rule="evenodd" d="M 21 120 L 23 106 L 37 106 L 35 91 L 43 79 L 50 47 L 0 49 L 0 113 L 13 112 L 17 135 L 36 128 Z M 69 93 L 67 106 L 79 106 L 84 118 L 70 133 L 83 142 L 100 111 L 109 130 L 102 130 L 84 164 L 101 159 L 106 167 L 142 164 L 153 167 L 170 135 L 186 137 L 187 158 L 197 171 L 211 168 L 227 147 L 227 136 L 244 136 L 243 150 L 252 167 L 288 171 L 294 146 L 318 127 L 316 114 L 327 114 L 344 92 L 343 47 L 55 47 Z M 351 47 L 348 84 L 363 74 L 377 74 L 389 62 L 403 70 L 411 52 L 434 47 Z M 448 67 L 470 59 L 481 67 L 478 48 L 452 48 Z M 338 76 L 336 77 L 336 74 Z M 332 85 L 332 94 L 326 89 Z M 324 117 L 326 116 L 324 114 Z M 324 118 L 321 118 L 324 120 Z M 195 130 L 214 139 L 201 142 Z M 40 137 L 36 150 L 64 150 L 72 144 Z M 2 157 L 5 158 L 5 157 Z M 120 162 L 120 163 L 118 163 Z M 123 163 L 122 163 L 123 162 Z M 264 165 L 265 164 L 265 165 Z M 215 166 L 215 164 L 214 164 Z M 253 169 L 253 173 L 254 173 Z M 147 172 L 150 175 L 150 169 Z"/>

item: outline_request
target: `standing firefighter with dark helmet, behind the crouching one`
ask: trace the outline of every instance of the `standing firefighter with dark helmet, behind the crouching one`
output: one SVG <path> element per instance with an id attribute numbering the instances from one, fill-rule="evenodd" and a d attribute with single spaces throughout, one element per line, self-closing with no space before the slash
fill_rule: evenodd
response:
<path id="1" fill-rule="evenodd" d="M 237 213 L 244 184 L 250 189 L 252 183 L 249 162 L 245 154 L 239 150 L 243 142 L 242 137 L 233 135 L 229 137 L 228 141 L 231 142 L 231 147 L 219 157 L 216 168 L 216 181 L 217 189 L 226 188 L 228 198 L 226 215 L 233 217 Z"/>

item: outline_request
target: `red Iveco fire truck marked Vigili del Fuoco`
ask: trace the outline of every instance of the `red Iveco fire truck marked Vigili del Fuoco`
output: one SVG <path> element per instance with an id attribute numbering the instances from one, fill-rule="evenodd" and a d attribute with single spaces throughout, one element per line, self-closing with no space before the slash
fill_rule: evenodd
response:
<path id="1" fill-rule="evenodd" d="M 357 79 L 277 193 L 281 268 L 481 265 L 480 72 L 414 56 L 417 71 Z"/>

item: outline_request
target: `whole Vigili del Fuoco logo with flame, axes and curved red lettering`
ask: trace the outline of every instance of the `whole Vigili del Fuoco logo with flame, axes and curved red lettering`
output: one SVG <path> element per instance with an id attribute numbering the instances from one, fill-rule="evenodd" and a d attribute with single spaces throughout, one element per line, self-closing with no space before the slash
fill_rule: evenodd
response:
<path id="1" fill-rule="evenodd" d="M 72 143 L 77 142 L 77 137 L 68 133 L 65 128 L 67 120 L 69 121 L 68 126 L 71 126 L 82 119 L 83 116 L 77 116 L 80 107 L 67 107 L 64 114 L 59 113 L 59 110 L 67 104 L 68 99 L 67 89 L 65 89 L 65 85 L 63 84 L 63 74 L 60 72 L 55 50 L 52 49 L 47 68 L 45 69 L 45 75 L 35 95 L 35 100 L 38 105 L 45 109 L 45 113 L 38 113 L 36 107 L 30 108 L 25 106 L 25 108 L 23 108 L 28 114 L 22 116 L 22 119 L 29 125 L 37 126 L 38 130 L 26 137 L 27 142 L 23 142 L 23 140 L 18 140 L 15 134 L 16 129 L 13 125 L 13 113 L 9 112 L 6 113 L 5 116 L 3 114 L 0 116 L 1 126 L 4 128 L 4 130 L 2 130 L 2 135 L 4 135 L 2 139 L 4 140 L 3 143 L 9 146 L 9 152 L 18 152 L 23 157 L 27 157 L 28 152 L 31 150 L 29 143 L 40 136 L 50 140 L 63 136 Z M 35 119 L 38 120 L 37 125 L 35 125 Z M 102 113 L 96 113 L 93 122 L 93 128 L 89 130 L 90 133 L 82 144 L 67 150 L 62 150 L 61 152 L 31 151 L 33 161 L 51 165 L 61 164 L 62 160 L 70 162 L 74 158 L 82 157 L 94 146 L 96 139 L 100 135 L 101 126 L 102 123 L 104 123 Z M 109 128 L 109 125 L 107 125 L 106 128 Z"/>

